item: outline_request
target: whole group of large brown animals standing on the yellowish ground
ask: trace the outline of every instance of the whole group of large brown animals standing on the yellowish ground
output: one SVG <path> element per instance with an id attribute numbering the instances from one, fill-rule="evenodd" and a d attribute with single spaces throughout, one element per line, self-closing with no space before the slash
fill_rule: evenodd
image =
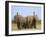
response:
<path id="1" fill-rule="evenodd" d="M 34 16 L 17 16 L 16 17 L 16 23 L 18 29 L 31 29 L 31 28 L 36 28 L 36 19 Z"/>

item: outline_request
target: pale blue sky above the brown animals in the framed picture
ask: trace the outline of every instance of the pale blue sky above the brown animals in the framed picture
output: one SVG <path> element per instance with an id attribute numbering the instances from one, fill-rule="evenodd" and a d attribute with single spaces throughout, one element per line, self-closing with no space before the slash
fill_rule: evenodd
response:
<path id="1" fill-rule="evenodd" d="M 35 15 L 37 15 L 41 19 L 41 7 L 12 5 L 11 6 L 12 19 L 17 14 L 17 12 L 23 16 L 29 16 L 29 15 L 32 16 L 33 12 L 35 12 Z"/>

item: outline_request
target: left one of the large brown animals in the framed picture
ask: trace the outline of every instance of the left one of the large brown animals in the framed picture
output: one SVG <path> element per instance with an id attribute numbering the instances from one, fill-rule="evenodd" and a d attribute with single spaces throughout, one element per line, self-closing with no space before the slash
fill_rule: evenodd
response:
<path id="1" fill-rule="evenodd" d="M 17 23 L 18 29 L 26 28 L 26 18 L 24 18 L 23 16 L 17 16 L 16 23 Z"/>

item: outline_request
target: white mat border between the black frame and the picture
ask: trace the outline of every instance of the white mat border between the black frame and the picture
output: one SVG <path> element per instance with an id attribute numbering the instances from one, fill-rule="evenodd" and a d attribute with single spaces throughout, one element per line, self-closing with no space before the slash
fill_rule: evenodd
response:
<path id="1" fill-rule="evenodd" d="M 42 18 L 42 22 L 41 22 L 41 30 L 22 30 L 22 31 L 11 31 L 11 5 L 16 5 L 16 6 L 41 6 L 42 10 L 41 10 L 41 18 Z M 9 35 L 10 34 L 24 34 L 24 33 L 42 33 L 44 30 L 44 25 L 43 25 L 43 5 L 40 4 L 23 4 L 23 3 L 9 3 Z"/>

